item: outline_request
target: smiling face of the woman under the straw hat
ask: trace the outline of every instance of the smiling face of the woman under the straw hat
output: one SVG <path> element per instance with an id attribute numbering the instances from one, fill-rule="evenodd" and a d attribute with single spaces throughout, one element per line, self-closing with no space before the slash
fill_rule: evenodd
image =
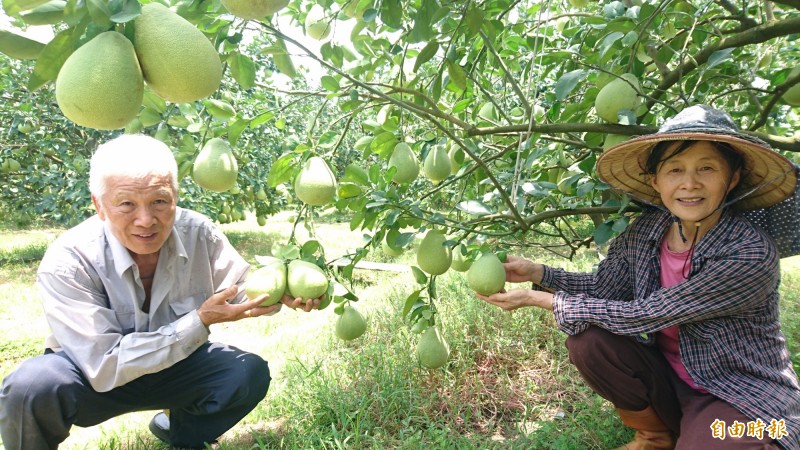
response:
<path id="1" fill-rule="evenodd" d="M 680 142 L 674 144 L 678 145 Z M 668 148 L 665 154 L 671 150 Z M 715 210 L 739 182 L 739 171 L 732 175 L 730 172 L 714 144 L 698 141 L 662 162 L 650 183 L 661 195 L 664 206 L 681 220 L 698 222 L 710 218 L 716 223 L 721 211 Z"/>

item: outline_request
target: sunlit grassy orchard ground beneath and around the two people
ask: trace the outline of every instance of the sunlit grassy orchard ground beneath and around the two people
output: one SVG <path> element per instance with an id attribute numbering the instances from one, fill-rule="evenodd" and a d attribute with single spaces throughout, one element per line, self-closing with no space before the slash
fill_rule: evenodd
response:
<path id="1" fill-rule="evenodd" d="M 293 213 L 259 227 L 255 218 L 224 225 L 245 258 L 287 241 Z M 328 260 L 362 244 L 347 221 L 315 224 Z M 0 376 L 39 354 L 48 329 L 34 280 L 38 261 L 62 229 L 0 224 Z M 308 239 L 297 228 L 297 239 Z M 413 253 L 366 259 L 415 264 Z M 569 270 L 591 270 L 596 253 L 573 261 L 531 253 Z M 396 267 L 396 266 L 390 266 Z M 795 370 L 800 369 L 800 257 L 782 261 L 781 314 Z M 267 398 L 221 439 L 224 449 L 267 448 L 612 448 L 627 442 L 613 408 L 585 387 L 569 364 L 564 338 L 543 311 L 503 313 L 480 302 L 463 273 L 438 277 L 440 326 L 450 343 L 446 368 L 418 366 L 419 339 L 403 322 L 405 298 L 417 289 L 409 272 L 356 270 L 355 306 L 369 321 L 364 336 L 333 333 L 333 306 L 310 314 L 284 308 L 272 317 L 215 325 L 213 340 L 267 359 Z M 154 412 L 75 427 L 61 448 L 163 449 L 147 431 Z"/>

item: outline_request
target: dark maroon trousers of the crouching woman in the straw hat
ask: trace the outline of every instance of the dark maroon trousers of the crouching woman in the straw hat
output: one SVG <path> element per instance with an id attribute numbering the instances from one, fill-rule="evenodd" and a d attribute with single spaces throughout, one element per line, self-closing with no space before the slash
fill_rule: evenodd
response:
<path id="1" fill-rule="evenodd" d="M 735 421 L 748 418 L 729 403 L 689 387 L 675 374 L 658 348 L 597 327 L 567 338 L 570 361 L 586 383 L 616 408 L 641 411 L 651 406 L 664 424 L 678 435 L 676 450 L 779 449 L 765 432 L 763 439 L 728 435 Z M 715 437 L 712 424 L 725 422 L 724 439 Z M 719 423 L 719 422 L 718 422 Z"/>

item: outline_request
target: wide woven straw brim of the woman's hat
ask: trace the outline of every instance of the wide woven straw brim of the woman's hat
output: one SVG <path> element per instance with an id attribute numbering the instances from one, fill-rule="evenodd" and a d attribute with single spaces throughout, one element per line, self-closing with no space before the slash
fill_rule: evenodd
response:
<path id="1" fill-rule="evenodd" d="M 792 163 L 766 144 L 728 134 L 656 133 L 640 136 L 617 144 L 597 159 L 597 175 L 613 189 L 635 200 L 662 205 L 661 196 L 650 185 L 645 161 L 653 146 L 662 141 L 726 142 L 744 157 L 737 192 L 754 190 L 735 203 L 737 209 L 767 208 L 791 195 L 797 185 L 797 173 Z"/>

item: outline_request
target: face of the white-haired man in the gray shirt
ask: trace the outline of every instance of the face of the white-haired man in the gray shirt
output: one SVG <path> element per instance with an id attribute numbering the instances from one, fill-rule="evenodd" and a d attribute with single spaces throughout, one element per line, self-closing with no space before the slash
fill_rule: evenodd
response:
<path id="1" fill-rule="evenodd" d="M 108 221 L 117 239 L 133 254 L 158 252 L 175 223 L 176 194 L 170 177 L 106 179 L 106 192 L 92 196 L 97 214 Z"/>

